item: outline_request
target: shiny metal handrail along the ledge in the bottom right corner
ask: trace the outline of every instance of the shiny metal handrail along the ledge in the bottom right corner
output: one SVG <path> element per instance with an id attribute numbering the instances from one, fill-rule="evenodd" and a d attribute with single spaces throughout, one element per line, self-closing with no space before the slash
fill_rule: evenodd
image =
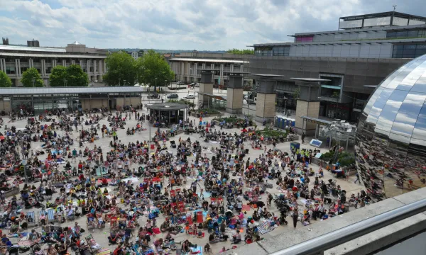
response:
<path id="1" fill-rule="evenodd" d="M 347 227 L 342 227 L 333 232 L 323 234 L 320 237 L 315 237 L 300 244 L 295 244 L 286 249 L 275 251 L 271 255 L 312 255 L 322 254 L 322 251 L 327 251 L 340 244 L 344 244 L 353 239 L 371 233 L 382 227 L 386 227 L 400 220 L 405 220 L 408 217 L 417 215 L 420 212 L 426 211 L 426 199 L 403 205 L 400 208 L 383 212 L 367 220 L 356 222 Z"/>

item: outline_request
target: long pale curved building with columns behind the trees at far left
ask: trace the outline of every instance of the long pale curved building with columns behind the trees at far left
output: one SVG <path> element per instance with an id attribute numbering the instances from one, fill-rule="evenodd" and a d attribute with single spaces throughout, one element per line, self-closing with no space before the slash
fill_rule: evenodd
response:
<path id="1" fill-rule="evenodd" d="M 87 72 L 89 81 L 102 81 L 102 75 L 107 72 L 106 58 L 107 50 L 89 48 L 77 41 L 65 48 L 0 45 L 0 70 L 8 74 L 12 86 L 22 86 L 22 74 L 31 67 L 38 70 L 45 86 L 49 86 L 52 69 L 71 64 L 79 64 Z"/>

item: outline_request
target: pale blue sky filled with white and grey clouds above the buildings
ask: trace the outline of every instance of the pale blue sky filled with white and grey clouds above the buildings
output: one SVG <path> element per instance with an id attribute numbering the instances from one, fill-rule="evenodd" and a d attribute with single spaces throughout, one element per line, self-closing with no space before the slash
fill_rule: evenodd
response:
<path id="1" fill-rule="evenodd" d="M 228 50 L 337 30 L 339 17 L 426 16 L 425 0 L 0 0 L 0 36 L 65 47 Z"/>

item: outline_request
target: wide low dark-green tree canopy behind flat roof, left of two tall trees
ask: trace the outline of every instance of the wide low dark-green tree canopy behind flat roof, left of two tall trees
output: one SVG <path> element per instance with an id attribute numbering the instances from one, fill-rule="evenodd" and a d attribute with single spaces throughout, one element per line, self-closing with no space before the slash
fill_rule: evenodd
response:
<path id="1" fill-rule="evenodd" d="M 65 82 L 64 82 L 65 79 Z M 87 86 L 88 76 L 78 64 L 69 67 L 60 65 L 52 69 L 49 77 L 50 86 Z"/>

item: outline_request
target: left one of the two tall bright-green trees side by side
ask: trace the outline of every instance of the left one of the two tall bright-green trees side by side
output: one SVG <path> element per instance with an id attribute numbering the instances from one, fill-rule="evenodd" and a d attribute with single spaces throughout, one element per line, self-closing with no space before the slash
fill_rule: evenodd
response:
<path id="1" fill-rule="evenodd" d="M 105 63 L 108 71 L 103 78 L 109 86 L 133 86 L 136 83 L 136 61 L 131 55 L 123 51 L 114 52 L 108 55 Z"/>

